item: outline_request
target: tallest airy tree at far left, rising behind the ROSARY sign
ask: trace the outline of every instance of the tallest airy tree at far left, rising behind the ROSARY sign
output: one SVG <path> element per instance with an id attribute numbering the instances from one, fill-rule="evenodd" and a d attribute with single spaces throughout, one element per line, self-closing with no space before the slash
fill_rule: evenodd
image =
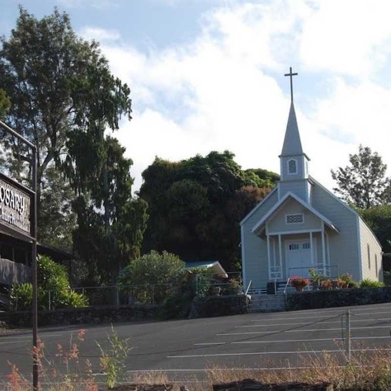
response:
<path id="1" fill-rule="evenodd" d="M 37 147 L 41 217 L 43 186 L 52 177 L 46 172 L 55 164 L 58 169 L 68 169 L 67 178 L 73 183 L 83 180 L 83 164 L 101 153 L 104 130 L 118 129 L 122 114 L 130 119 L 130 89 L 111 75 L 99 44 L 78 38 L 68 15 L 57 9 L 38 20 L 20 7 L 16 27 L 0 42 L 0 86 L 12 102 L 5 121 Z M 91 138 L 94 132 L 95 139 L 88 144 L 91 149 L 84 151 L 86 159 L 79 161 L 69 155 L 68 143 L 80 141 L 84 133 Z M 5 169 L 28 184 L 31 152 L 6 134 L 1 134 L 1 143 L 10 151 Z M 72 160 L 73 177 L 66 164 Z M 64 189 L 66 193 L 66 186 Z M 66 197 L 61 196 L 65 203 L 69 201 Z M 50 230 L 52 221 L 39 219 L 39 238 Z M 62 233 L 54 232 L 65 236 L 68 228 L 65 225 Z"/>

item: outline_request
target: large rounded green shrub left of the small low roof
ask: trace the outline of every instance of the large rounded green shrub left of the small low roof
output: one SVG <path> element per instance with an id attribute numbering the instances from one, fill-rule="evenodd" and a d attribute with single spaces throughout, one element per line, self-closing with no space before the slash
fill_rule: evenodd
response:
<path id="1" fill-rule="evenodd" d="M 142 303 L 162 303 L 170 296 L 185 275 L 185 262 L 163 251 L 151 251 L 130 262 L 121 270 L 118 284 Z M 130 289 L 128 287 L 136 287 Z"/>

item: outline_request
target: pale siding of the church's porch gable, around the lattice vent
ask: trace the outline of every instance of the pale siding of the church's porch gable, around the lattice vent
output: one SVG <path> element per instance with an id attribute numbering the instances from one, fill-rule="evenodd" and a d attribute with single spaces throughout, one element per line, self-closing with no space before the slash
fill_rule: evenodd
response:
<path id="1" fill-rule="evenodd" d="M 303 214 L 304 222 L 300 224 L 286 224 L 285 216 L 287 214 Z M 286 204 L 269 220 L 269 232 L 285 232 L 321 228 L 321 219 L 305 208 L 300 202 L 297 202 L 292 198 L 286 202 Z"/>

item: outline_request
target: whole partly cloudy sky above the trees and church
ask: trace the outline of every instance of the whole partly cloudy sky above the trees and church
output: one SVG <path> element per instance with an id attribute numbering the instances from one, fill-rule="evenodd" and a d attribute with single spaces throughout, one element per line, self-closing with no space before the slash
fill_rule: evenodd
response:
<path id="1" fill-rule="evenodd" d="M 57 6 L 101 43 L 131 88 L 133 119 L 115 136 L 134 164 L 134 189 L 159 156 L 229 150 L 243 169 L 279 172 L 294 102 L 309 173 L 330 190 L 330 169 L 360 144 L 391 175 L 390 1 L 0 0 L 0 34 L 21 3 L 36 17 Z"/>

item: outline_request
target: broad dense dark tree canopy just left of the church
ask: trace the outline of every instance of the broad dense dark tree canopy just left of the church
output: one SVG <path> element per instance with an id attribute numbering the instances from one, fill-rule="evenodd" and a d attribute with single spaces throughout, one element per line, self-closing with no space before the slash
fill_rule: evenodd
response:
<path id="1" fill-rule="evenodd" d="M 167 250 L 185 261 L 218 260 L 238 268 L 239 221 L 279 179 L 243 171 L 232 152 L 213 151 L 180 162 L 155 158 L 139 195 L 149 205 L 143 252 Z"/>

